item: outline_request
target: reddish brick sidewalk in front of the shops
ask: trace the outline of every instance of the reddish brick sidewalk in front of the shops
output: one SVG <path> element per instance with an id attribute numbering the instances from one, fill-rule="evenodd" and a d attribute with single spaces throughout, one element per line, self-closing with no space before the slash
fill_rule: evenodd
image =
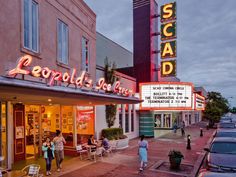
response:
<path id="1" fill-rule="evenodd" d="M 180 177 L 195 176 L 204 155 L 203 148 L 212 137 L 214 130 L 203 129 L 203 137 L 200 137 L 200 127 L 204 124 L 197 124 L 186 127 L 186 135 L 191 135 L 191 150 L 186 150 L 186 138 L 180 135 L 180 130 L 176 134 L 169 133 L 160 138 L 151 138 L 148 150 L 148 167 L 141 174 L 138 173 L 138 139 L 130 141 L 129 148 L 118 151 L 113 155 L 99 159 L 96 163 L 91 161 L 80 161 L 78 158 L 68 160 L 63 165 L 62 172 L 55 172 L 52 176 L 62 177 L 134 177 L 134 176 L 163 176 Z M 155 164 L 168 162 L 169 150 L 177 149 L 184 154 L 182 164 L 193 166 L 192 173 L 180 175 L 174 172 L 155 170 Z"/>

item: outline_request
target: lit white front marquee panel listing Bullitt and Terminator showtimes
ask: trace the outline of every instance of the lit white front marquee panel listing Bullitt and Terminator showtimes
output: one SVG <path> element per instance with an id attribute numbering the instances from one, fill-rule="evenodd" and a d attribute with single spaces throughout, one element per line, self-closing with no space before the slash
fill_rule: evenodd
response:
<path id="1" fill-rule="evenodd" d="M 140 84 L 141 110 L 192 110 L 193 85 L 187 82 Z"/>

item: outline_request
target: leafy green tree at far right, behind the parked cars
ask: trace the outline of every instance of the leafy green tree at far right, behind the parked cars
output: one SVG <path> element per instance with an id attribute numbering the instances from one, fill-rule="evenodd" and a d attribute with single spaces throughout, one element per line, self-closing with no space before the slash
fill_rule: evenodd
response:
<path id="1" fill-rule="evenodd" d="M 209 126 L 213 127 L 225 113 L 229 111 L 228 100 L 218 92 L 208 92 L 207 104 L 204 111 L 204 118 L 209 120 Z"/>

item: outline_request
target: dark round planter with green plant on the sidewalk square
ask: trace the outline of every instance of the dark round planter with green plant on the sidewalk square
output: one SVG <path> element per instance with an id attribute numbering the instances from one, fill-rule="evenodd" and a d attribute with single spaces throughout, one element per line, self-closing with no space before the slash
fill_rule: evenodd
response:
<path id="1" fill-rule="evenodd" d="M 171 169 L 179 169 L 183 154 L 177 150 L 171 150 L 168 154 Z"/>

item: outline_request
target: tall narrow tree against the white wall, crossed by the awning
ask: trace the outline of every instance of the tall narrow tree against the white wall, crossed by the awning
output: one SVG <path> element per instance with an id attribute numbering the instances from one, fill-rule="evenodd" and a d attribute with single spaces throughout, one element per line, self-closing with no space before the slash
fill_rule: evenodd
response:
<path id="1" fill-rule="evenodd" d="M 106 83 L 114 84 L 114 82 L 117 80 L 115 77 L 115 69 L 116 64 L 115 62 L 111 63 L 108 62 L 108 58 L 105 58 L 105 67 L 104 67 L 104 77 Z M 107 126 L 110 128 L 114 125 L 115 119 L 116 119 L 116 112 L 117 112 L 117 105 L 106 105 L 106 122 Z"/>

